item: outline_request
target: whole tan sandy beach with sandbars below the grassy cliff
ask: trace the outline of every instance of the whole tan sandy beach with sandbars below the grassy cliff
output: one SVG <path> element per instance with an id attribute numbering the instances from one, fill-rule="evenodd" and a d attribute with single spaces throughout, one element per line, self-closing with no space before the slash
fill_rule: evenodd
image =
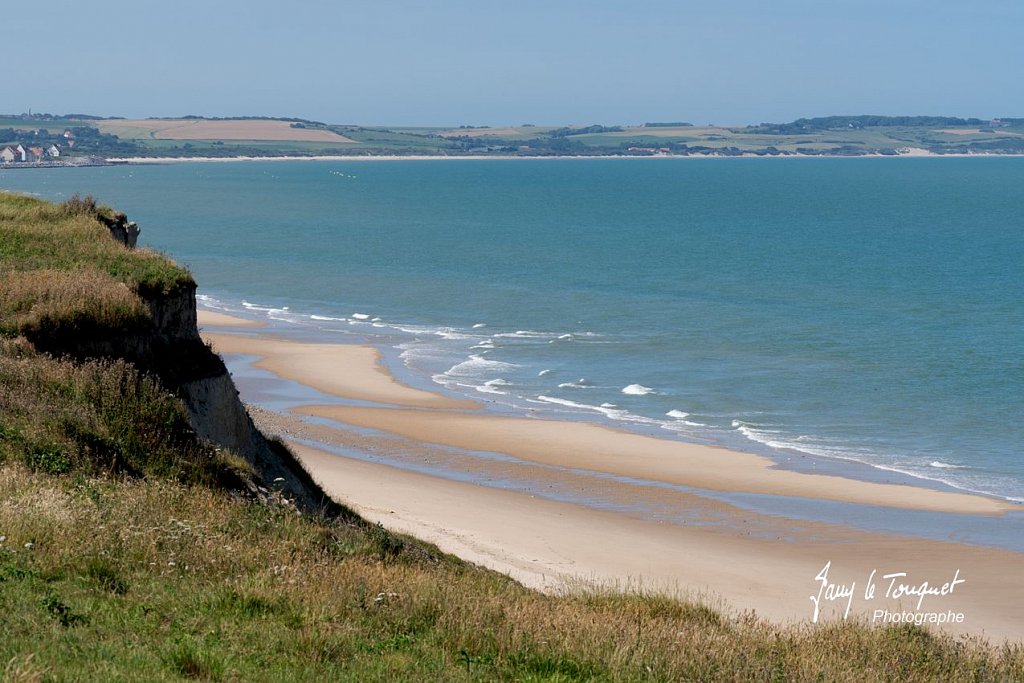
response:
<path id="1" fill-rule="evenodd" d="M 211 319 L 204 313 L 201 325 Z M 780 622 L 809 621 L 815 608 L 821 620 L 848 612 L 876 623 L 906 610 L 951 620 L 940 628 L 953 633 L 1024 638 L 1013 600 L 1024 593 L 1020 553 L 762 514 L 701 490 L 931 515 L 991 517 L 1019 506 L 794 472 L 759 456 L 593 424 L 493 415 L 399 383 L 372 347 L 249 330 L 204 336 L 222 353 L 258 356 L 262 370 L 337 397 L 288 414 L 253 410 L 328 493 L 371 521 L 526 585 L 640 586 Z M 243 399 L 256 398 L 240 388 Z"/>

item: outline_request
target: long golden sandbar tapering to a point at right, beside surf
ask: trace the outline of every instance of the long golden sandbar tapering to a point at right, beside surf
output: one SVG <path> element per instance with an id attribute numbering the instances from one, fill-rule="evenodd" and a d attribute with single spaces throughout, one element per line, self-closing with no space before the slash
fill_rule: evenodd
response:
<path id="1" fill-rule="evenodd" d="M 479 414 L 449 414 L 441 419 L 404 408 L 308 405 L 292 412 L 416 441 L 691 488 L 959 514 L 1019 510 L 1012 503 L 974 494 L 778 469 L 762 456 L 583 422 Z"/>

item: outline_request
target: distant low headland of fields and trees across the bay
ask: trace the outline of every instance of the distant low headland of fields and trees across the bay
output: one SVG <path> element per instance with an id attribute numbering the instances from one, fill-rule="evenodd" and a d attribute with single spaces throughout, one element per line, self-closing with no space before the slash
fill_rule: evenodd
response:
<path id="1" fill-rule="evenodd" d="M 319 157 L 864 157 L 1024 154 L 1024 118 L 830 116 L 754 126 L 380 127 L 294 118 L 0 115 L 0 168 Z"/>

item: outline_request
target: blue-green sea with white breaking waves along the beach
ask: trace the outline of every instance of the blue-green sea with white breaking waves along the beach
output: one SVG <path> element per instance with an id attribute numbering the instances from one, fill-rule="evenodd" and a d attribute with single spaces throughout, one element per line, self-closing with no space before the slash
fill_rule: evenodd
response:
<path id="1" fill-rule="evenodd" d="M 1024 500 L 1024 159 L 0 170 L 420 385 Z"/>

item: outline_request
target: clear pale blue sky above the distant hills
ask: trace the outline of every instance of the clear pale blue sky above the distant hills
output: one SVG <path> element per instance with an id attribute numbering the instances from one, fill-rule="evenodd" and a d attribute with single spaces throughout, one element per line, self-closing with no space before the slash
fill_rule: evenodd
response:
<path id="1" fill-rule="evenodd" d="M 56 0 L 5 7 L 4 27 L 4 113 L 1024 117 L 1019 0 Z"/>

